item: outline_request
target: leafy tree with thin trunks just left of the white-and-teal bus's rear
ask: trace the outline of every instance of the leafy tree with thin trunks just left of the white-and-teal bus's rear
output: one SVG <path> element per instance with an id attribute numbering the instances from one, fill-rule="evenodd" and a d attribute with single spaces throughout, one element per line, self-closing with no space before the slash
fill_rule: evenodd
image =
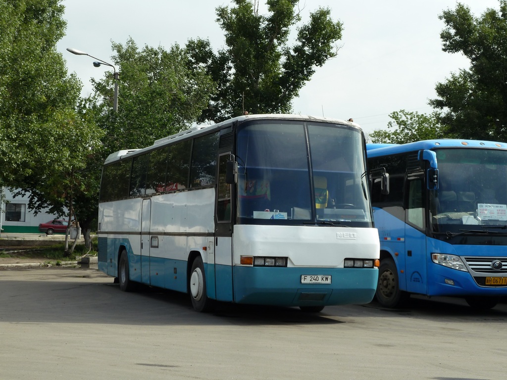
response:
<path id="1" fill-rule="evenodd" d="M 15 185 L 18 195 L 28 194 L 28 208 L 35 214 L 43 209 L 58 216 L 68 215 L 70 221 L 79 222 L 83 231 L 85 246 L 91 248 L 90 232 L 96 219 L 98 202 L 100 166 L 94 166 L 97 157 L 102 157 L 101 137 L 89 116 L 77 110 L 67 110 L 45 127 L 51 131 L 48 139 L 58 145 L 55 151 L 48 151 L 44 162 L 37 171 L 19 177 Z M 73 252 L 74 245 L 68 248 L 65 239 L 65 252 Z"/>

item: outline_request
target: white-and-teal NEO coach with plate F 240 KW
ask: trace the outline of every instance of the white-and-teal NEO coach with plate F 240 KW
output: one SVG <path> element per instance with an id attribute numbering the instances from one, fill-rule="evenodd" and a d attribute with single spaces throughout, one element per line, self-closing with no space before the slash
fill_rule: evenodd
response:
<path id="1" fill-rule="evenodd" d="M 214 300 L 300 307 L 368 303 L 378 278 L 363 131 L 349 122 L 247 115 L 109 156 L 98 267 Z"/>

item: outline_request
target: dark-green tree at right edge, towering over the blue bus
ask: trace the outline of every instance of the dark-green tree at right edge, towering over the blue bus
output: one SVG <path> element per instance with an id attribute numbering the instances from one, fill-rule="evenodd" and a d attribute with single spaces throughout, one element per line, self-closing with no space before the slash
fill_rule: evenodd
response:
<path id="1" fill-rule="evenodd" d="M 461 138 L 507 141 L 507 1 L 499 5 L 499 12 L 487 9 L 478 18 L 458 3 L 439 17 L 446 24 L 443 50 L 461 52 L 470 68 L 438 83 L 438 98 L 430 104 L 442 110 L 438 120 Z"/>

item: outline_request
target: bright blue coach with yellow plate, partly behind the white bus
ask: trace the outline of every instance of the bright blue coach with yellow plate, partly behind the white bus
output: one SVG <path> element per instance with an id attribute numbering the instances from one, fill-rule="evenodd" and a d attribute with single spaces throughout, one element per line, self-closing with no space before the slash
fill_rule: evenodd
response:
<path id="1" fill-rule="evenodd" d="M 507 295 L 507 144 L 442 139 L 367 149 L 380 304 L 398 307 L 415 293 L 494 307 Z"/>

